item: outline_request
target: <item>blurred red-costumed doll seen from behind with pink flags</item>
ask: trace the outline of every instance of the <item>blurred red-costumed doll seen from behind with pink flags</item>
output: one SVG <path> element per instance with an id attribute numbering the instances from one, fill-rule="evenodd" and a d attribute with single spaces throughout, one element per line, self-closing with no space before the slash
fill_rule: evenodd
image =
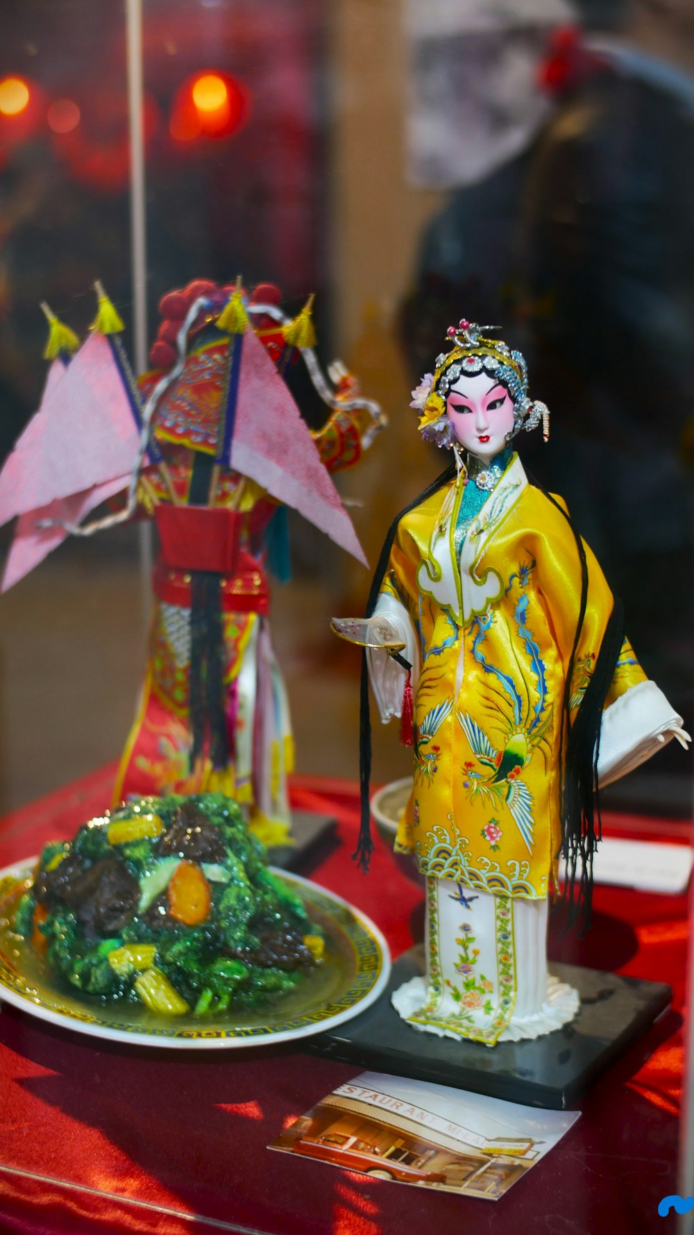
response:
<path id="1" fill-rule="evenodd" d="M 162 298 L 152 371 L 137 379 L 123 322 L 96 291 L 82 345 L 43 306 L 46 389 L 0 472 L 0 525 L 20 516 L 1 590 L 67 535 L 152 519 L 149 650 L 114 803 L 221 792 L 284 845 L 294 743 L 268 571 L 289 576 L 288 508 L 366 563 L 332 473 L 358 463 L 385 417 L 340 362 L 324 374 L 312 296 L 289 317 L 273 284 L 195 279 Z M 327 409 L 312 430 L 307 393 Z"/>

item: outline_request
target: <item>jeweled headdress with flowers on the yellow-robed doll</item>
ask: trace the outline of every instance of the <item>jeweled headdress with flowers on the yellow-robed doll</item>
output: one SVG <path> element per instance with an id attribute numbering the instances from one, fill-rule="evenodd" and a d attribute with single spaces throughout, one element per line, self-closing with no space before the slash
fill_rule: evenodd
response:
<path id="1" fill-rule="evenodd" d="M 422 437 L 436 442 L 437 446 L 453 445 L 453 429 L 446 415 L 448 391 L 466 373 L 474 375 L 484 371 L 506 387 L 514 400 L 511 436 L 517 433 L 519 429 L 527 431 L 536 429 L 542 421 L 542 437 L 547 441 L 550 410 L 546 404 L 533 403 L 527 396 L 527 364 L 522 352 L 511 351 L 503 340 L 483 335 L 483 330 L 498 330 L 498 327 L 478 326 L 467 317 L 462 317 L 457 326 L 448 326 L 446 335 L 452 345 L 451 351 L 441 352 L 436 357 L 435 372 L 425 373 L 419 387 L 412 390 L 410 408 L 416 408 L 421 412 L 419 429 Z"/>

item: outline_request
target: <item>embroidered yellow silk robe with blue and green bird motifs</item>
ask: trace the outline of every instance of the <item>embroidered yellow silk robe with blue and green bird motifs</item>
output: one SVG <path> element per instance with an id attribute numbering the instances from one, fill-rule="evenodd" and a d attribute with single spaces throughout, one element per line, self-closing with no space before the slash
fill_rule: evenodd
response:
<path id="1" fill-rule="evenodd" d="M 470 482 L 472 483 L 472 482 Z M 573 531 L 529 484 L 517 456 L 467 527 L 451 482 L 400 521 L 382 595 L 417 636 L 414 793 L 396 847 L 420 871 L 540 899 L 562 840 L 562 705 L 580 604 Z M 572 720 L 612 608 L 585 546 L 588 603 L 571 683 Z M 605 706 L 646 674 L 625 641 Z"/>

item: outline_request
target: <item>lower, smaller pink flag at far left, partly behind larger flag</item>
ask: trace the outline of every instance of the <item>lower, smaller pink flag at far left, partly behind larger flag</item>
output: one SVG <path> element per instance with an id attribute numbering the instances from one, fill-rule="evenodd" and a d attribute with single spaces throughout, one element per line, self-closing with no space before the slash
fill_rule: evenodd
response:
<path id="1" fill-rule="evenodd" d="M 30 510 L 20 515 L 15 538 L 5 562 L 2 587 L 0 592 L 23 579 L 25 574 L 33 571 L 44 557 L 48 557 L 58 545 L 62 545 L 68 532 L 64 527 L 38 527 L 44 519 L 59 519 L 68 524 L 79 524 L 91 510 L 102 501 L 112 498 L 114 494 L 126 489 L 130 484 L 130 475 L 116 477 L 115 480 L 106 480 L 85 493 L 74 493 L 70 498 L 57 498 L 47 506 L 38 510 Z"/>

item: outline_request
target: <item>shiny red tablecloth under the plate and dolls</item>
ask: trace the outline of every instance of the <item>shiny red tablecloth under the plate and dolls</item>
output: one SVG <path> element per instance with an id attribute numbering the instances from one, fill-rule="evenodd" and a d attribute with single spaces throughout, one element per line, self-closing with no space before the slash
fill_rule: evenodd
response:
<path id="1" fill-rule="evenodd" d="M 7 815 L 0 867 L 104 810 L 115 767 Z M 424 899 L 379 845 L 349 861 L 357 789 L 296 778 L 294 805 L 337 816 L 340 847 L 311 872 L 363 909 L 396 956 L 421 935 Z M 609 818 L 608 832 L 654 825 Z M 688 825 L 657 827 L 687 844 Z M 556 958 L 669 982 L 673 1011 L 605 1073 L 582 1118 L 499 1202 L 432 1193 L 269 1152 L 278 1132 L 359 1070 L 288 1046 L 226 1051 L 130 1047 L 0 1014 L 0 1230 L 32 1235 L 635 1235 L 677 1192 L 687 899 L 595 889 L 595 929 Z"/>

